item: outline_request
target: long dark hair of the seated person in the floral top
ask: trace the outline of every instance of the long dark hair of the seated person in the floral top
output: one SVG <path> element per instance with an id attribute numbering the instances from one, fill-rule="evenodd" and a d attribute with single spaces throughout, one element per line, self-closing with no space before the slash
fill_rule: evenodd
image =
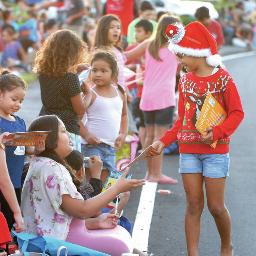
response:
<path id="1" fill-rule="evenodd" d="M 62 164 L 70 173 L 70 176 L 72 177 L 72 180 L 76 186 L 77 191 L 80 192 L 81 182 L 76 178 L 76 174 L 74 170 L 67 164 L 66 160 L 60 158 L 55 151 L 55 148 L 57 147 L 57 143 L 59 139 L 58 129 L 59 129 L 59 118 L 54 115 L 48 115 L 48 116 L 39 116 L 38 118 L 34 119 L 33 122 L 30 124 L 28 131 L 34 132 L 39 130 L 40 131 L 52 130 L 52 132 L 50 132 L 46 137 L 45 150 L 39 153 L 37 156 L 49 157 L 52 160 Z"/>

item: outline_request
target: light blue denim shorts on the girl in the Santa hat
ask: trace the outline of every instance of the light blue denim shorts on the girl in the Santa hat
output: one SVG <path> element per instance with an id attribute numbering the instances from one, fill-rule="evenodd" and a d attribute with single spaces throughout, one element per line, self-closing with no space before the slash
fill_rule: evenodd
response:
<path id="1" fill-rule="evenodd" d="M 208 178 L 228 177 L 229 154 L 180 153 L 179 173 L 202 173 Z"/>

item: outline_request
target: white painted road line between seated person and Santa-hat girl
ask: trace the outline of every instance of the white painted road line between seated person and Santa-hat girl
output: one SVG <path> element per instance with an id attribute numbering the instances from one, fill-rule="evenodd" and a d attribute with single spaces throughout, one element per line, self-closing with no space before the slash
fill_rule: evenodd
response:
<path id="1" fill-rule="evenodd" d="M 147 182 L 142 186 L 140 202 L 132 230 L 134 247 L 147 251 L 148 236 L 154 210 L 157 182 Z"/>

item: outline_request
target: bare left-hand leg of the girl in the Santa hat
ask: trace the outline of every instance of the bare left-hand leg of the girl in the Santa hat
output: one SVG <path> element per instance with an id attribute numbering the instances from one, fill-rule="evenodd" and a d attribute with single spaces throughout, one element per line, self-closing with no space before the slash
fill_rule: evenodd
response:
<path id="1" fill-rule="evenodd" d="M 201 214 L 204 209 L 204 178 L 200 173 L 182 174 L 187 206 L 185 233 L 188 256 L 198 256 Z"/>

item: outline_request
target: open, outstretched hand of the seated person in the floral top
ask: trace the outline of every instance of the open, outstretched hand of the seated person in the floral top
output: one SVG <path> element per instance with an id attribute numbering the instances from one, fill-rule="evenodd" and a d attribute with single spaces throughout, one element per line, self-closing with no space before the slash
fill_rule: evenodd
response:
<path id="1" fill-rule="evenodd" d="M 126 179 L 126 174 L 128 173 L 129 168 L 126 168 L 123 172 L 123 174 L 120 176 L 120 178 L 115 182 L 113 187 L 116 188 L 116 190 L 119 193 L 122 192 L 127 192 L 132 189 L 138 188 L 142 185 L 145 185 L 146 180 L 131 180 L 131 179 Z"/>

